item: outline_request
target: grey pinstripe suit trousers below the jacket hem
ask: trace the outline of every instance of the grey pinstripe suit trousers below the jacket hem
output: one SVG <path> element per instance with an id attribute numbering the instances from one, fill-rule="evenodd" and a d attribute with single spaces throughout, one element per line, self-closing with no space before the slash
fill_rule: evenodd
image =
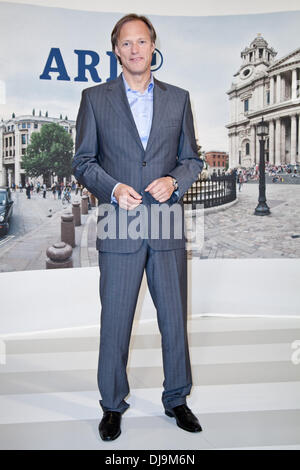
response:
<path id="1" fill-rule="evenodd" d="M 165 409 L 186 403 L 192 387 L 187 339 L 186 250 L 153 250 L 147 240 L 133 253 L 99 252 L 100 348 L 98 387 L 104 411 L 129 404 L 127 361 L 132 323 L 146 269 L 162 338 Z"/>

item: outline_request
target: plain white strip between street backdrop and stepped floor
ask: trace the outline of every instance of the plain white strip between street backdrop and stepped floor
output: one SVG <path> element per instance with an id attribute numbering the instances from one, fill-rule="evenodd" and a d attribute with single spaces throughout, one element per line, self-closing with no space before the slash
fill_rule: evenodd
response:
<path id="1" fill-rule="evenodd" d="M 99 269 L 0 274 L 0 335 L 95 325 Z M 193 259 L 188 262 L 189 315 L 300 316 L 300 260 Z M 146 277 L 137 319 L 156 317 Z"/>

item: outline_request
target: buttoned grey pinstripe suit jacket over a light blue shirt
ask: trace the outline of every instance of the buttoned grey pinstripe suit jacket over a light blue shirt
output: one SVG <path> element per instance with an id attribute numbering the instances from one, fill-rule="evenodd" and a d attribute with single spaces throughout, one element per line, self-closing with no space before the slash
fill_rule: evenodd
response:
<path id="1" fill-rule="evenodd" d="M 138 250 L 143 238 L 156 250 L 185 247 L 182 196 L 198 178 L 203 161 L 198 157 L 189 93 L 154 79 L 153 119 L 144 150 L 127 100 L 122 75 L 101 85 L 87 88 L 76 121 L 76 148 L 72 167 L 77 180 L 99 202 L 98 227 L 115 224 L 111 238 L 98 232 L 96 246 L 101 251 L 129 253 Z M 173 193 L 160 204 L 144 189 L 154 179 L 171 175 L 178 181 L 179 195 Z M 126 211 L 111 203 L 116 183 L 132 186 L 142 194 L 144 210 Z M 105 204 L 105 205 L 104 205 Z M 155 230 L 151 206 L 156 210 Z M 164 208 L 172 209 L 159 219 Z M 105 212 L 103 209 L 107 209 Z M 111 210 L 110 210 L 111 209 Z M 178 210 L 179 209 L 179 210 Z M 162 220 L 170 219 L 170 234 Z M 124 230 L 138 225 L 140 236 L 125 235 Z M 181 230 L 178 235 L 178 228 Z M 132 232 L 131 232 L 132 234 Z"/>

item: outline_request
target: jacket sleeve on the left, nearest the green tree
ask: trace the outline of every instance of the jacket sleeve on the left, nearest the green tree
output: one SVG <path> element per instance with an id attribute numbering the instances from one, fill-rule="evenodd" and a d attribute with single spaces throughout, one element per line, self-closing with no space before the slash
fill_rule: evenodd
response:
<path id="1" fill-rule="evenodd" d="M 101 203 L 111 202 L 111 193 L 118 183 L 100 166 L 99 142 L 96 119 L 87 94 L 83 90 L 76 120 L 75 155 L 72 161 L 73 174 Z"/>

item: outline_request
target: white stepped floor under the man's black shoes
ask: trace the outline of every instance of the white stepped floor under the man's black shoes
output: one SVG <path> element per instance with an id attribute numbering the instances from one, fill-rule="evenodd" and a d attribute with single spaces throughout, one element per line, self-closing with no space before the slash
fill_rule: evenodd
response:
<path id="1" fill-rule="evenodd" d="M 195 435 L 163 414 L 156 322 L 135 324 L 131 406 L 121 436 L 110 443 L 98 435 L 98 330 L 2 341 L 1 449 L 300 449 L 300 318 L 189 320 L 194 386 L 188 404 L 203 427 Z"/>

